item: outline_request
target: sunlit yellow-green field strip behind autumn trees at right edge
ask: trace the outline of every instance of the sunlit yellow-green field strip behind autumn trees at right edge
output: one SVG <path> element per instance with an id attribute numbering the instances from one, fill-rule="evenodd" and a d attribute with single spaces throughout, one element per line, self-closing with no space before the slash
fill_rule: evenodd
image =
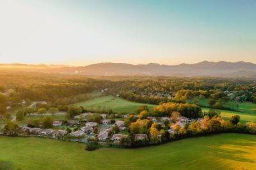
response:
<path id="1" fill-rule="evenodd" d="M 209 108 L 202 108 L 203 112 L 209 111 Z M 240 122 L 245 123 L 245 122 L 256 122 L 256 114 L 250 114 L 250 113 L 241 113 L 237 111 L 230 111 L 230 110 L 217 110 L 220 111 L 221 117 L 228 119 L 232 117 L 232 115 L 239 115 L 240 117 Z"/>

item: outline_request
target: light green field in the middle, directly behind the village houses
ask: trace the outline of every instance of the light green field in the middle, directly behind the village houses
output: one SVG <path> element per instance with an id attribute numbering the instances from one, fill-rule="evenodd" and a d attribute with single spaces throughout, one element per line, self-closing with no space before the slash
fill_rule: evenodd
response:
<path id="1" fill-rule="evenodd" d="M 120 97 L 113 96 L 102 96 L 97 97 L 95 99 L 91 99 L 89 101 L 84 101 L 81 103 L 73 104 L 75 106 L 83 106 L 87 110 L 108 110 L 112 109 L 114 112 L 120 113 L 134 113 L 134 110 L 141 105 L 147 105 L 150 108 L 150 111 L 156 106 L 154 104 L 144 104 L 144 103 L 134 103 L 131 101 L 127 101 Z"/>

